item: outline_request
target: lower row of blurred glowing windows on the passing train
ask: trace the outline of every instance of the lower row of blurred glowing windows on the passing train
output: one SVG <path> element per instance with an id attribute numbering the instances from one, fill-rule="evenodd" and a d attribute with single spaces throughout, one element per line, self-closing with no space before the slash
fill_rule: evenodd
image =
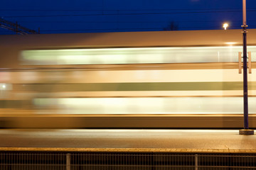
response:
<path id="1" fill-rule="evenodd" d="M 256 97 L 249 98 L 255 111 Z M 34 98 L 38 113 L 242 114 L 242 97 Z M 40 109 L 42 108 L 42 109 Z M 48 110 L 48 112 L 46 112 Z"/>

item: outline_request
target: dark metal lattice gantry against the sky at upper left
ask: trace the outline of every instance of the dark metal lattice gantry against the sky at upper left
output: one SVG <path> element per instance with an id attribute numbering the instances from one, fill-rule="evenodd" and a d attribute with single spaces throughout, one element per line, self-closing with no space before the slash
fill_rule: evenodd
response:
<path id="1" fill-rule="evenodd" d="M 6 30 L 12 30 L 16 34 L 26 35 L 26 34 L 38 34 L 36 30 L 31 30 L 20 26 L 17 22 L 12 23 L 11 21 L 6 21 L 3 18 L 0 18 L 0 27 Z"/>

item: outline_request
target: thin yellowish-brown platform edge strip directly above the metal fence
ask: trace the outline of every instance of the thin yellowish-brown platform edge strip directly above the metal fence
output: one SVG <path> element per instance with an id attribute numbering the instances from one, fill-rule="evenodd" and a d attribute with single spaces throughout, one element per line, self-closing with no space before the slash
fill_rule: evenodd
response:
<path id="1" fill-rule="evenodd" d="M 256 154 L 255 149 L 168 149 L 168 148 L 74 148 L 74 147 L 0 147 L 0 152 L 155 152 Z"/>

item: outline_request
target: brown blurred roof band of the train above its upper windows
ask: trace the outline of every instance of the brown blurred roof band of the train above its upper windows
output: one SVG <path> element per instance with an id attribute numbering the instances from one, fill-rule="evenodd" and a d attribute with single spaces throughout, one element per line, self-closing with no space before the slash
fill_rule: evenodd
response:
<path id="1" fill-rule="evenodd" d="M 256 29 L 247 44 L 256 45 Z M 194 47 L 242 45 L 241 30 L 179 30 L 122 33 L 0 35 L 0 46 L 29 49 L 100 47 Z"/>

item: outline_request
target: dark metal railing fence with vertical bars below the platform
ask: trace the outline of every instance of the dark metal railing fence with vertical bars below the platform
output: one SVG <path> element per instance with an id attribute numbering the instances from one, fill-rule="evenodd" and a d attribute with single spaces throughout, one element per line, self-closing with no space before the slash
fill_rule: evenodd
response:
<path id="1" fill-rule="evenodd" d="M 256 154 L 0 152 L 1 170 L 245 170 Z"/>

